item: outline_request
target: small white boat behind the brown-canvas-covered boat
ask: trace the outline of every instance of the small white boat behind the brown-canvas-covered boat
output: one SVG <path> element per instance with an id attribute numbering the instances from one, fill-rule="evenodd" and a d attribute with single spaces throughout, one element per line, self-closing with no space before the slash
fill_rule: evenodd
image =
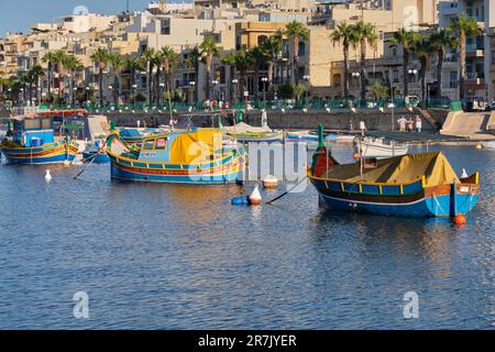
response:
<path id="1" fill-rule="evenodd" d="M 360 150 L 361 146 L 361 150 Z M 362 138 L 354 139 L 354 152 L 361 157 L 385 158 L 391 156 L 406 155 L 409 151 L 409 143 L 397 143 L 393 140 L 383 138 Z"/>

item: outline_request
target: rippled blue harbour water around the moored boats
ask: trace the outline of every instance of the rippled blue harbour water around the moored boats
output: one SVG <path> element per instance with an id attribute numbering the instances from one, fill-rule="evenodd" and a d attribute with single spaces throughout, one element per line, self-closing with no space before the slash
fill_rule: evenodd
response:
<path id="1" fill-rule="evenodd" d="M 482 173 L 463 228 L 323 211 L 312 186 L 248 208 L 230 199 L 252 185 L 124 184 L 109 165 L 51 166 L 46 184 L 0 165 L 0 329 L 493 329 L 495 152 L 441 148 Z"/>

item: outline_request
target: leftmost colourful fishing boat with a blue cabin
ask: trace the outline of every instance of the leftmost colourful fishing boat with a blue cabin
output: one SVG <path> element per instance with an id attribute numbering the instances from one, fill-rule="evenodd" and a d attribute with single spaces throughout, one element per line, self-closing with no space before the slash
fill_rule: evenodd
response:
<path id="1" fill-rule="evenodd" d="M 57 164 L 72 162 L 78 152 L 76 143 L 67 138 L 55 140 L 54 113 L 30 113 L 12 118 L 13 129 L 0 145 L 8 163 Z"/>

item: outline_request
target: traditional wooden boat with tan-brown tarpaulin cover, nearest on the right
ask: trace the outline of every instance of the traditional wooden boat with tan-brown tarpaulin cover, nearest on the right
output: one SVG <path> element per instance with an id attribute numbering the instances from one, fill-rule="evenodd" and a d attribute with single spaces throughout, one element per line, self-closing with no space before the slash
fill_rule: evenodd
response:
<path id="1" fill-rule="evenodd" d="M 340 165 L 324 147 L 321 129 L 308 177 L 320 204 L 333 210 L 405 217 L 454 217 L 479 200 L 479 173 L 459 178 L 441 152 L 363 158 Z"/>

